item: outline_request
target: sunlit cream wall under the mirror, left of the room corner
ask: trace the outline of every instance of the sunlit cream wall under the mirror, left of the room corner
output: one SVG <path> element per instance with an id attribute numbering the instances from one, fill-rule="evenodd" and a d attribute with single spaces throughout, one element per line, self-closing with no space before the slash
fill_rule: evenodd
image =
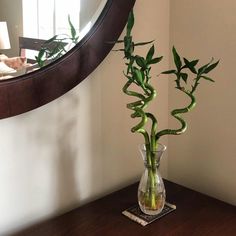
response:
<path id="1" fill-rule="evenodd" d="M 134 35 L 157 39 L 168 68 L 169 6 L 137 1 Z M 161 7 L 160 7 L 161 6 Z M 141 30 L 140 30 L 141 29 Z M 0 235 L 81 205 L 136 181 L 143 163 L 126 109 L 122 55 L 111 52 L 73 91 L 29 113 L 0 122 Z M 158 80 L 157 80 L 158 81 Z M 168 83 L 158 82 L 156 107 L 167 127 Z M 166 140 L 163 140 L 166 143 Z M 167 155 L 163 159 L 167 176 Z"/>

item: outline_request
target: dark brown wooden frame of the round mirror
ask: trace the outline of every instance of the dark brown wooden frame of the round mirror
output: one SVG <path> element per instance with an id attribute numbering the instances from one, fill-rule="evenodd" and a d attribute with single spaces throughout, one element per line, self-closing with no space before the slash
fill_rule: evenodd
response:
<path id="1" fill-rule="evenodd" d="M 89 33 L 57 61 L 0 81 L 0 119 L 45 105 L 83 81 L 106 57 L 120 36 L 135 0 L 108 0 Z"/>

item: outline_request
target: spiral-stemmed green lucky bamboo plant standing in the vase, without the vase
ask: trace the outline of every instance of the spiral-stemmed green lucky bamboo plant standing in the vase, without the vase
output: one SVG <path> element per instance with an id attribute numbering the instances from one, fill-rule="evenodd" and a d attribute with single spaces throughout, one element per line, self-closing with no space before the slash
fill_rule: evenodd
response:
<path id="1" fill-rule="evenodd" d="M 154 172 L 156 167 L 155 153 L 158 149 L 158 143 L 164 135 L 180 135 L 187 129 L 187 123 L 183 119 L 182 114 L 191 111 L 196 105 L 195 92 L 199 87 L 200 82 L 207 80 L 214 82 L 213 79 L 208 77 L 208 73 L 212 71 L 219 63 L 213 62 L 213 59 L 200 67 L 198 67 L 199 60 L 189 60 L 180 57 L 175 47 L 172 49 L 175 68 L 164 71 L 161 74 L 168 74 L 175 78 L 175 88 L 185 94 L 190 103 L 184 108 L 174 109 L 171 111 L 171 115 L 177 119 L 180 123 L 180 127 L 177 129 L 158 129 L 158 120 L 154 114 L 147 112 L 146 108 L 148 104 L 156 97 L 157 91 L 151 84 L 153 79 L 159 78 L 151 76 L 151 69 L 154 64 L 159 63 L 162 60 L 162 56 L 154 56 L 155 46 L 153 41 L 150 42 L 134 42 L 132 37 L 132 29 L 134 26 L 134 14 L 130 13 L 128 23 L 126 27 L 126 35 L 123 40 L 119 40 L 116 43 L 121 43 L 124 46 L 116 51 L 124 52 L 125 65 L 127 69 L 124 71 L 124 76 L 127 81 L 123 87 L 123 92 L 128 96 L 136 98 L 127 104 L 127 108 L 133 111 L 131 117 L 138 118 L 139 122 L 135 125 L 131 131 L 134 133 L 140 133 L 144 137 L 146 147 L 146 161 L 149 169 L 148 176 L 152 179 L 151 188 L 156 184 L 154 181 Z M 146 55 L 138 55 L 135 53 L 137 47 L 152 44 L 147 51 Z M 192 78 L 190 78 L 192 75 Z M 151 125 L 148 126 L 148 122 Z M 150 202 L 150 207 L 155 208 L 154 196 L 152 189 L 149 191 L 149 195 L 146 196 Z"/>

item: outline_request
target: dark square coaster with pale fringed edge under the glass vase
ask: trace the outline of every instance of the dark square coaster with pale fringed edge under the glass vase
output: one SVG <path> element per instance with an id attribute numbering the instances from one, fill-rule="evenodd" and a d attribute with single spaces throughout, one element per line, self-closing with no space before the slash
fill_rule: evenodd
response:
<path id="1" fill-rule="evenodd" d="M 170 203 L 165 203 L 165 206 L 158 215 L 150 216 L 144 214 L 138 205 L 132 206 L 125 211 L 122 212 L 123 215 L 127 216 L 129 219 L 141 224 L 142 226 L 146 226 L 153 221 L 160 219 L 161 217 L 169 214 L 170 212 L 176 210 L 176 206 Z"/>

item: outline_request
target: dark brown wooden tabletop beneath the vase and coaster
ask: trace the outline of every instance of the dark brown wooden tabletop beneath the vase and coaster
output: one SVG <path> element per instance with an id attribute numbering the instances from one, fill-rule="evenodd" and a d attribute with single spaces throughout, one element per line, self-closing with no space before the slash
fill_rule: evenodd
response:
<path id="1" fill-rule="evenodd" d="M 235 236 L 236 207 L 165 181 L 177 210 L 148 226 L 121 214 L 136 202 L 137 184 L 26 229 L 15 236 Z"/>

